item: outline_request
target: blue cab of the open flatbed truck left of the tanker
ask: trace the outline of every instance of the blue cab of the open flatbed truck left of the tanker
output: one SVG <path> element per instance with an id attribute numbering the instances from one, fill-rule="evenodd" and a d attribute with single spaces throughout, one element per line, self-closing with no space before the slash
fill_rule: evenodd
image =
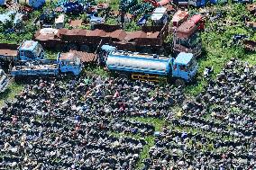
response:
<path id="1" fill-rule="evenodd" d="M 73 53 L 59 53 L 57 63 L 61 73 L 72 73 L 78 76 L 82 71 L 81 59 Z"/>

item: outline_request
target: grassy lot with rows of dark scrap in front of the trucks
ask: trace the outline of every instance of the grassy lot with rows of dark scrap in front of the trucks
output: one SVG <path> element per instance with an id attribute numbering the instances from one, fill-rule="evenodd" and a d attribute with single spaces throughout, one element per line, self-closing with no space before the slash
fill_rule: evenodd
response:
<path id="1" fill-rule="evenodd" d="M 1 166 L 253 169 L 256 56 L 232 37 L 256 40 L 255 32 L 243 24 L 243 4 L 226 9 L 224 19 L 206 22 L 197 83 L 185 89 L 111 78 L 99 67 L 78 79 L 10 85 L 1 94 L 3 105 L 14 99 L 1 115 Z"/>

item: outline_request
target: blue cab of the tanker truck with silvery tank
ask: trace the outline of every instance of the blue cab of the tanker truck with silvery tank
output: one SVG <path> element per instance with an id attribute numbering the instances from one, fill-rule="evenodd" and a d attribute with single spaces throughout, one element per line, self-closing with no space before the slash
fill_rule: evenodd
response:
<path id="1" fill-rule="evenodd" d="M 197 73 L 198 64 L 192 53 L 180 52 L 171 63 L 173 77 L 189 82 Z"/>

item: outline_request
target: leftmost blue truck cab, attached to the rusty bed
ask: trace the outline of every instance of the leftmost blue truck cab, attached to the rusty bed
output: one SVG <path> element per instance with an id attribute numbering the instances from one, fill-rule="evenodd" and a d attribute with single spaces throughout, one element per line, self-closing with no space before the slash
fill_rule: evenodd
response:
<path id="1" fill-rule="evenodd" d="M 24 40 L 18 48 L 18 56 L 23 61 L 40 60 L 44 58 L 44 50 L 39 42 Z"/>

